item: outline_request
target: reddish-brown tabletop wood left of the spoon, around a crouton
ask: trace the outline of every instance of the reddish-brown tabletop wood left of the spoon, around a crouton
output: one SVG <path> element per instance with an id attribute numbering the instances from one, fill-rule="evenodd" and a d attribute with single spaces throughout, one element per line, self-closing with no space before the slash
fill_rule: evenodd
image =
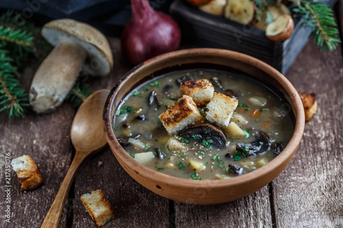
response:
<path id="1" fill-rule="evenodd" d="M 11 223 L 1 220 L 0 227 L 39 227 L 49 210 L 60 183 L 67 173 L 71 161 L 70 125 L 75 110 L 70 104 L 63 105 L 53 114 L 37 116 L 29 113 L 25 119 L 8 121 L 6 114 L 0 114 L 0 178 L 4 188 L 5 153 L 10 159 L 30 155 L 40 168 L 44 185 L 27 193 L 20 191 L 20 183 L 11 167 Z M 58 127 L 56 127 L 58 126 Z M 4 190 L 1 188 L 1 190 Z M 5 208 L 5 194 L 0 196 L 0 208 Z M 3 211 L 1 211 L 1 215 Z M 65 225 L 67 216 L 61 224 Z"/>

